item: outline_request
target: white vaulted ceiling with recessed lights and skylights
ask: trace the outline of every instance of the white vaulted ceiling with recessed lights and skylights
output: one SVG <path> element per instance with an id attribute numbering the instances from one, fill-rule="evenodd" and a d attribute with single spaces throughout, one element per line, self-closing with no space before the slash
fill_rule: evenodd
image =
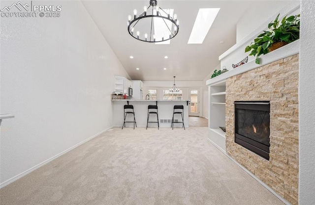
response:
<path id="1" fill-rule="evenodd" d="M 173 76 L 176 80 L 203 80 L 219 64 L 219 55 L 236 43 L 236 23 L 252 4 L 248 0 L 158 0 L 161 8 L 174 9 L 180 30 L 170 45 L 156 45 L 138 41 L 127 31 L 128 15 L 133 9 L 142 13 L 149 0 L 82 2 L 131 79 L 145 81 L 173 80 Z M 199 8 L 221 10 L 203 44 L 187 44 Z"/>

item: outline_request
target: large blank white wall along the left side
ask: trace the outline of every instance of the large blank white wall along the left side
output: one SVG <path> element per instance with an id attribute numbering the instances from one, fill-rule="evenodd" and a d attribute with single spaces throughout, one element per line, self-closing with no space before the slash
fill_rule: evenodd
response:
<path id="1" fill-rule="evenodd" d="M 1 185 L 110 128 L 114 75 L 129 78 L 81 1 L 44 3 L 61 17 L 1 17 Z"/>

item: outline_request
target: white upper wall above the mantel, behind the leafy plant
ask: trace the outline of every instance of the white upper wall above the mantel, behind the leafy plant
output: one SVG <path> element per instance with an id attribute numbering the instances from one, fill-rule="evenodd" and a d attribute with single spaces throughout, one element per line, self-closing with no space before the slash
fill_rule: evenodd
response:
<path id="1" fill-rule="evenodd" d="M 284 6 L 299 0 L 254 0 L 252 6 L 244 13 L 236 25 L 236 43 L 249 35 L 267 19 L 278 13 Z M 268 26 L 268 25 L 267 25 Z"/>

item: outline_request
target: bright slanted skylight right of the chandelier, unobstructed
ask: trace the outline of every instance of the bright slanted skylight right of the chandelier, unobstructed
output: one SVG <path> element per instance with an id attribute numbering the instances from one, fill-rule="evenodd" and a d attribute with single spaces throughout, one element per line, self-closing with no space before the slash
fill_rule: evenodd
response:
<path id="1" fill-rule="evenodd" d="M 202 44 L 220 8 L 200 8 L 192 27 L 188 44 Z"/>

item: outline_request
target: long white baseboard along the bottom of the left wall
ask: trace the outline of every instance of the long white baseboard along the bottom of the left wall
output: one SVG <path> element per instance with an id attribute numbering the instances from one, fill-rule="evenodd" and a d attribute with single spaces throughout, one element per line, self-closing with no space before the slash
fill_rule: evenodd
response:
<path id="1" fill-rule="evenodd" d="M 88 139 L 86 139 L 86 140 L 84 140 L 84 141 L 82 141 L 82 142 L 80 142 L 80 143 L 78 143 L 78 144 L 76 144 L 76 145 L 70 147 L 69 149 L 63 151 L 62 153 L 57 154 L 57 155 L 55 155 L 55 156 L 53 156 L 53 157 L 51 157 L 51 158 L 49 158 L 49 159 L 47 159 L 47 160 L 45 160 L 45 161 L 43 161 L 43 162 L 41 162 L 41 163 L 39 163 L 39 164 L 33 166 L 32 168 L 26 170 L 25 172 L 22 172 L 21 174 L 18 174 L 17 176 L 12 177 L 11 179 L 8 179 L 8 180 L 2 182 L 2 183 L 0 184 L 0 188 L 2 188 L 2 187 L 4 187 L 4 186 L 6 186 L 6 185 L 12 183 L 13 181 L 15 181 L 15 180 L 17 180 L 17 179 L 20 179 L 20 178 L 24 177 L 24 176 L 27 175 L 27 174 L 30 174 L 32 171 L 34 171 L 34 170 L 40 168 L 41 166 L 43 166 L 43 165 L 45 165 L 45 164 L 51 162 L 52 160 L 54 160 L 54 159 L 60 157 L 61 155 L 66 154 L 67 152 L 73 150 L 74 148 L 76 148 L 76 147 L 78 147 L 78 146 L 84 144 L 85 142 L 87 142 L 87 141 L 93 139 L 94 137 L 96 137 L 96 136 L 102 134 L 103 132 L 105 132 L 105 131 L 107 131 L 107 130 L 109 130 L 109 129 L 111 129 L 111 128 L 113 128 L 113 126 L 107 128 L 107 129 L 104 129 L 103 131 L 101 131 L 101 132 L 99 132 L 99 133 L 93 135 L 92 137 L 90 137 L 90 138 L 88 138 Z"/>

